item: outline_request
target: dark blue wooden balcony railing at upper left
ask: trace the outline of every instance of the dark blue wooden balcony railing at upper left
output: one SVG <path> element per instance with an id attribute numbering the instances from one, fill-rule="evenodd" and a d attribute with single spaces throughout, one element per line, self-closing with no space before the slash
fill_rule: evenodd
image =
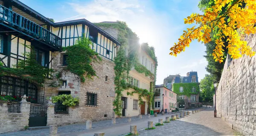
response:
<path id="1" fill-rule="evenodd" d="M 41 27 L 26 17 L 0 5 L 0 22 L 5 22 L 19 31 L 23 31 L 36 39 L 44 41 L 46 44 L 53 44 L 61 47 L 61 38 Z"/>

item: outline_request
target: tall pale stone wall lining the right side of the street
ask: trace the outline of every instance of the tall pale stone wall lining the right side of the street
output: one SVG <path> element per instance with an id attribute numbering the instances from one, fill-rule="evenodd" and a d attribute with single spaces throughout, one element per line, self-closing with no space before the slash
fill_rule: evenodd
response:
<path id="1" fill-rule="evenodd" d="M 256 35 L 246 37 L 256 51 Z M 256 135 L 256 56 L 227 57 L 216 92 L 217 117 L 244 135 Z"/>

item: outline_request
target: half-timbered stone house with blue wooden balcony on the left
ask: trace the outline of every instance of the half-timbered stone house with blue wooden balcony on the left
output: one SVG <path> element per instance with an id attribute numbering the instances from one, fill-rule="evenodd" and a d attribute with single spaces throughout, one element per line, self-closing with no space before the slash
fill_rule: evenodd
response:
<path id="1" fill-rule="evenodd" d="M 27 60 L 24 52 L 33 50 L 42 68 L 53 69 L 46 75 L 48 79 L 43 86 L 30 80 L 31 75 L 20 77 L 0 72 L 1 97 L 15 99 L 0 103 L 0 132 L 114 117 L 113 60 L 120 45 L 116 38 L 86 19 L 52 22 L 18 0 L 0 0 L 0 31 L 0 62 L 3 64 L 0 67 L 15 69 L 18 60 Z M 66 67 L 68 57 L 61 48 L 74 45 L 83 35 L 91 40 L 91 49 L 102 58 L 99 63 L 91 64 L 97 77 L 83 83 L 73 73 L 62 72 L 57 78 Z M 28 97 L 27 102 L 20 103 L 24 94 Z M 59 94 L 79 97 L 79 105 L 68 108 L 56 104 L 54 108 L 47 108 L 47 97 Z"/>

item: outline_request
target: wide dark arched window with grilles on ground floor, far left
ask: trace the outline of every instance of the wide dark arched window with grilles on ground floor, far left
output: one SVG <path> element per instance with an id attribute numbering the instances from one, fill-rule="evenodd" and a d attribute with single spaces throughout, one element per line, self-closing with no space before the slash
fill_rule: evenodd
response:
<path id="1" fill-rule="evenodd" d="M 26 94 L 28 102 L 37 103 L 38 88 L 35 84 L 16 77 L 0 76 L 0 95 L 9 95 L 20 101 Z"/>

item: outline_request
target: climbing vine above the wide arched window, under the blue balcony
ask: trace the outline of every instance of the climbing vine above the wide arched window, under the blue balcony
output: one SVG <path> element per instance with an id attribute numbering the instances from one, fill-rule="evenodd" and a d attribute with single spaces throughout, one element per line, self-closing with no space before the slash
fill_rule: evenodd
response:
<path id="1" fill-rule="evenodd" d="M 20 78 L 37 82 L 38 85 L 43 86 L 43 83 L 46 79 L 48 79 L 47 76 L 52 69 L 43 67 L 36 61 L 36 53 L 33 47 L 30 47 L 29 45 L 24 46 L 30 48 L 31 50 L 30 53 L 23 53 L 26 56 L 26 59 L 18 60 L 18 63 L 13 65 L 13 68 L 4 67 L 3 63 L 0 62 L 0 76 L 16 75 Z"/>

